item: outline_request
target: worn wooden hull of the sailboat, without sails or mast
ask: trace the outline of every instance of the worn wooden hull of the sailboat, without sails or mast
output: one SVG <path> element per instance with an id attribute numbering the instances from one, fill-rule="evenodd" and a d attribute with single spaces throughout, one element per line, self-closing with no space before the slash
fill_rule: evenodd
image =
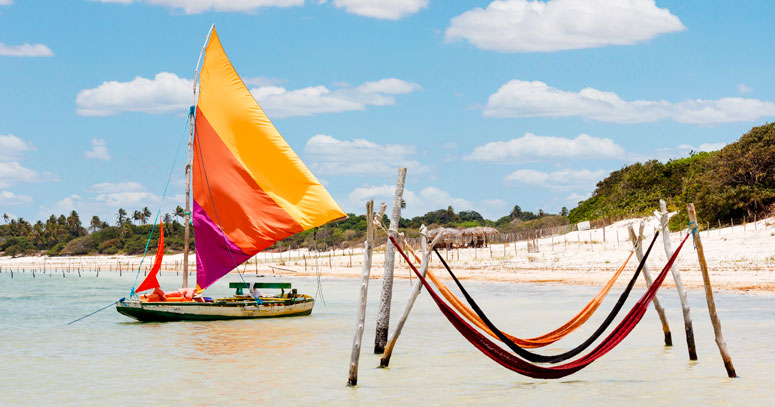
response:
<path id="1" fill-rule="evenodd" d="M 116 311 L 141 322 L 217 321 L 227 319 L 280 318 L 309 315 L 312 298 L 286 305 L 257 305 L 253 301 L 116 303 Z"/>

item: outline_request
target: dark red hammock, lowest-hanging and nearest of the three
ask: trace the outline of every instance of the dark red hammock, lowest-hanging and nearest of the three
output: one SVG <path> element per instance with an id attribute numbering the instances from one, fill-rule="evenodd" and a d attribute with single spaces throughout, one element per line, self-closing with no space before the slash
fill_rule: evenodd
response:
<path id="1" fill-rule="evenodd" d="M 463 335 L 469 342 L 471 342 L 472 345 L 479 349 L 480 352 L 484 353 L 487 357 L 494 360 L 501 366 L 519 374 L 536 379 L 559 379 L 561 377 L 573 374 L 589 366 L 592 362 L 610 352 L 614 347 L 621 343 L 643 318 L 643 315 L 648 309 L 649 303 L 656 295 L 657 290 L 662 285 L 662 282 L 665 280 L 667 272 L 675 262 L 675 259 L 678 257 L 678 253 L 681 252 L 681 248 L 683 247 L 684 243 L 686 243 L 686 239 L 688 237 L 688 234 L 686 237 L 684 237 L 683 241 L 681 241 L 681 244 L 673 253 L 673 256 L 670 257 L 667 264 L 665 264 L 665 267 L 662 268 L 662 271 L 656 277 L 648 290 L 646 290 L 640 300 L 635 303 L 630 312 L 627 313 L 627 315 L 619 323 L 619 325 L 616 326 L 613 332 L 611 332 L 605 339 L 603 339 L 603 341 L 600 342 L 600 344 L 598 344 L 595 349 L 572 362 L 558 366 L 544 367 L 534 365 L 505 351 L 497 344 L 487 339 L 487 337 L 482 335 L 479 331 L 474 329 L 474 327 L 466 323 L 462 318 L 460 318 L 460 316 L 457 315 L 455 311 L 453 311 L 452 308 L 450 308 L 449 305 L 447 305 L 441 299 L 441 297 L 439 297 L 438 294 L 436 294 L 436 292 L 430 286 L 428 281 L 420 274 L 420 272 L 417 271 L 417 268 L 414 266 L 414 264 L 409 261 L 409 258 L 406 256 L 404 251 L 401 250 L 401 247 L 396 242 L 395 238 L 389 236 L 390 241 L 396 247 L 401 256 L 404 257 L 404 260 L 409 263 L 409 267 L 411 267 L 412 271 L 414 271 L 415 275 L 417 275 L 417 278 L 420 279 L 422 284 L 425 286 L 425 289 L 428 290 L 428 293 L 433 298 L 433 301 L 436 302 L 436 305 L 439 307 L 447 320 L 449 320 L 449 322 L 455 327 L 455 329 L 458 330 L 458 332 L 460 332 L 461 335 Z"/>

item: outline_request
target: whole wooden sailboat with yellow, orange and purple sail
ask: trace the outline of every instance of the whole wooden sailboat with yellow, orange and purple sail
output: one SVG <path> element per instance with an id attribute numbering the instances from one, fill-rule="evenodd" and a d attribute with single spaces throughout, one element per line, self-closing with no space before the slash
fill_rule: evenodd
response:
<path id="1" fill-rule="evenodd" d="M 250 290 L 248 283 L 231 283 L 237 291 L 230 298 L 210 299 L 202 293 L 276 241 L 347 217 L 245 86 L 215 26 L 203 53 L 201 71 L 197 62 L 194 75 L 195 105 L 189 111 L 183 288 L 165 300 L 154 267 L 138 289 L 132 289 L 129 299 L 116 303 L 116 310 L 140 321 L 309 315 L 314 299 L 290 290 L 288 283 L 254 283 L 250 295 L 242 291 Z M 188 287 L 192 223 L 196 288 Z M 161 255 L 163 237 L 157 251 L 159 265 Z M 150 288 L 154 294 L 139 294 L 140 289 Z M 264 297 L 255 294 L 256 288 L 279 288 L 282 293 Z"/>

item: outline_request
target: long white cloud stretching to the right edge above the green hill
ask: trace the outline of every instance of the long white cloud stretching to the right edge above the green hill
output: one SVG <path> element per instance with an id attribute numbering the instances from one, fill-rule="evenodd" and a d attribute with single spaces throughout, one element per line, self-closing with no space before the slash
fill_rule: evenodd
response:
<path id="1" fill-rule="evenodd" d="M 758 99 L 687 99 L 627 101 L 616 93 L 584 88 L 563 91 L 539 81 L 512 80 L 490 95 L 489 117 L 573 117 L 612 123 L 644 123 L 672 119 L 679 123 L 713 124 L 759 120 L 775 115 L 775 103 Z"/>

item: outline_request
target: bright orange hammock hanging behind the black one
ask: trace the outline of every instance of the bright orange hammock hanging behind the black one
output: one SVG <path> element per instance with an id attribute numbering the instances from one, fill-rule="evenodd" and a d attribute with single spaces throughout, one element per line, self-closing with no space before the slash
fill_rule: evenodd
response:
<path id="1" fill-rule="evenodd" d="M 412 256 L 414 256 L 415 261 L 418 263 L 420 262 L 420 259 L 417 257 L 417 255 L 414 253 L 412 248 L 407 244 L 406 240 L 404 240 L 404 247 L 406 247 L 410 253 L 412 253 Z M 592 300 L 589 301 L 589 303 L 579 311 L 576 316 L 571 318 L 568 322 L 560 326 L 559 328 L 548 332 L 546 334 L 543 334 L 541 336 L 536 336 L 535 338 L 528 338 L 528 339 L 521 339 L 517 338 L 515 336 L 509 335 L 506 332 L 503 332 L 503 334 L 511 339 L 512 342 L 519 345 L 522 348 L 540 348 L 546 345 L 550 345 L 554 342 L 559 341 L 560 339 L 567 336 L 569 333 L 576 330 L 576 328 L 583 325 L 587 320 L 592 316 L 592 314 L 595 313 L 595 311 L 600 307 L 600 304 L 603 303 L 603 298 L 605 298 L 606 295 L 608 295 L 608 292 L 611 291 L 611 287 L 614 286 L 614 283 L 616 282 L 616 279 L 619 278 L 619 275 L 622 274 L 622 271 L 624 271 L 624 268 L 627 266 L 627 263 L 630 261 L 630 258 L 632 258 L 633 251 L 630 250 L 630 255 L 627 256 L 627 260 L 624 261 L 624 264 L 622 264 L 621 267 L 619 267 L 619 270 L 616 270 L 616 273 L 614 273 L 613 277 L 606 283 L 605 286 L 600 290 L 597 295 L 592 298 Z M 495 335 L 489 328 L 487 328 L 487 325 L 479 318 L 474 311 L 469 308 L 466 304 L 464 304 L 460 299 L 458 299 L 455 294 L 450 291 L 449 288 L 447 288 L 444 283 L 441 282 L 430 270 L 427 270 L 427 277 L 433 282 L 434 285 L 439 289 L 439 292 L 441 292 L 441 295 L 444 296 L 444 298 L 449 301 L 450 304 L 461 314 L 463 315 L 467 320 L 469 320 L 472 324 L 476 325 L 479 329 L 486 332 L 488 335 L 492 336 L 495 339 L 498 339 L 498 336 Z"/>

